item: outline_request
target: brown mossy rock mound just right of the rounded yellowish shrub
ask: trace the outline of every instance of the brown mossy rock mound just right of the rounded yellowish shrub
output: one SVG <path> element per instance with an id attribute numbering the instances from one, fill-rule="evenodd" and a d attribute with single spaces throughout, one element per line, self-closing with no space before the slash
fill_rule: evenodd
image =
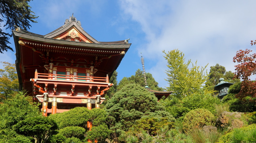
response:
<path id="1" fill-rule="evenodd" d="M 245 113 L 242 112 L 227 112 L 224 111 L 221 113 L 220 117 L 216 120 L 216 124 L 221 127 L 228 127 L 231 125 L 231 128 L 240 128 L 244 125 L 244 123 L 240 120 L 240 118 Z"/>

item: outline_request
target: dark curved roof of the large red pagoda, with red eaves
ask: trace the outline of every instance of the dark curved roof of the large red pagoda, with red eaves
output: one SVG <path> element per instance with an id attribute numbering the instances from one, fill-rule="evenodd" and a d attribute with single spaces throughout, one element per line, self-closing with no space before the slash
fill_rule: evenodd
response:
<path id="1" fill-rule="evenodd" d="M 99 42 L 81 27 L 75 17 L 66 19 L 64 25 L 46 34 L 39 35 L 15 26 L 12 30 L 16 48 L 16 69 L 20 88 L 32 87 L 35 69 L 50 62 L 65 62 L 69 66 L 94 66 L 94 76 L 111 77 L 131 43 L 128 40 Z M 71 64 L 70 64 L 71 63 Z M 42 68 L 43 69 L 43 68 Z"/>

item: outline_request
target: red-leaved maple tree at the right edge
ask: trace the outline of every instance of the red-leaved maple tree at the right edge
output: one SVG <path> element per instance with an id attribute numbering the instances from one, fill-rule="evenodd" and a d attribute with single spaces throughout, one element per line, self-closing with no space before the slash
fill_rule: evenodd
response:
<path id="1" fill-rule="evenodd" d="M 251 45 L 256 44 L 251 41 Z M 250 80 L 250 76 L 256 74 L 256 53 L 251 53 L 252 50 L 239 50 L 233 58 L 233 62 L 237 62 L 235 66 L 235 78 L 243 79 L 241 90 L 236 95 L 239 99 L 244 99 L 246 96 L 251 98 L 256 97 L 256 81 Z"/>

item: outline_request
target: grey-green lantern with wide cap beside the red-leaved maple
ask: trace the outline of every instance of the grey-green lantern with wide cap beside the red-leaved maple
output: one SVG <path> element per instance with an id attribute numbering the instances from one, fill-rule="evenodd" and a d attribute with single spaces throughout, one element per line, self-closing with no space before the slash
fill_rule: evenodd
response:
<path id="1" fill-rule="evenodd" d="M 220 78 L 219 81 L 218 85 L 214 87 L 214 90 L 219 90 L 218 97 L 222 99 L 228 94 L 228 88 L 233 85 L 233 83 L 224 81 L 224 78 Z"/>

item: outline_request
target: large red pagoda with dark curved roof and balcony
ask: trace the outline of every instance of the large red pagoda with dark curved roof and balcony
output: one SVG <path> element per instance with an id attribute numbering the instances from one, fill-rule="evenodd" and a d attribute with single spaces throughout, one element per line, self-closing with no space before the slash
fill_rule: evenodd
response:
<path id="1" fill-rule="evenodd" d="M 33 97 L 44 116 L 77 106 L 99 108 L 131 43 L 99 42 L 72 15 L 46 35 L 12 30 L 20 90 Z"/>

